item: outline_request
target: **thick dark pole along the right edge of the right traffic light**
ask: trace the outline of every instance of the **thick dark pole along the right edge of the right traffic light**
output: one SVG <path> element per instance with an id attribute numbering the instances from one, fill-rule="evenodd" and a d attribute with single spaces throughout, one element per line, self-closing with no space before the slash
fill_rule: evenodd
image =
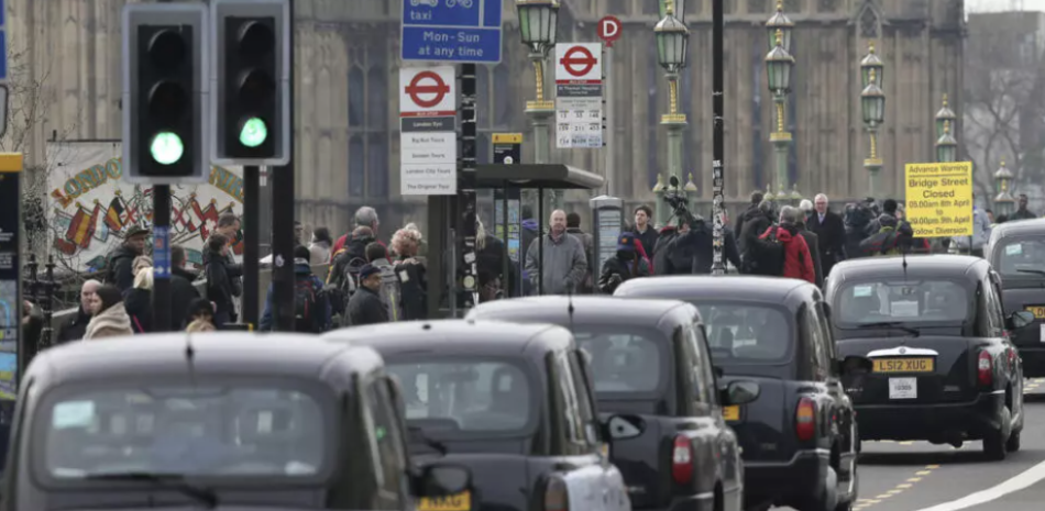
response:
<path id="1" fill-rule="evenodd" d="M 294 0 L 289 2 L 289 23 L 294 23 Z M 294 31 L 288 44 L 294 47 Z M 294 52 L 289 55 L 289 68 L 294 69 Z M 294 98 L 294 79 L 287 80 L 290 98 Z M 294 101 L 290 101 L 290 123 L 294 123 Z M 290 133 L 294 131 L 290 130 Z M 294 331 L 294 143 L 289 144 L 289 162 L 272 171 L 272 189 L 278 190 L 272 198 L 272 298 L 275 331 Z"/>

